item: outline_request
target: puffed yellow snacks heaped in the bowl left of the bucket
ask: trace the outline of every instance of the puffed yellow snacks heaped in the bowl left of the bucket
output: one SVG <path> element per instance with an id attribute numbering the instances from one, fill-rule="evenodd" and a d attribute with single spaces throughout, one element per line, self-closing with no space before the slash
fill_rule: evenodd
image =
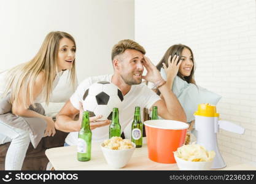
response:
<path id="1" fill-rule="evenodd" d="M 127 150 L 133 148 L 131 140 L 122 139 L 122 137 L 111 137 L 111 139 L 104 140 L 103 144 L 105 148 L 111 150 Z"/>

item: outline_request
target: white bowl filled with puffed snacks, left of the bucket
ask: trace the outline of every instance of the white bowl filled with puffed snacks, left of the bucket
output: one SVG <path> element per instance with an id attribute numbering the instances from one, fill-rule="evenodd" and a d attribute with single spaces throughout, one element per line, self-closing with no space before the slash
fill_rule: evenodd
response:
<path id="1" fill-rule="evenodd" d="M 131 140 L 122 139 L 122 137 L 112 137 L 101 144 L 107 164 L 114 169 L 126 166 L 135 148 L 136 145 Z"/>

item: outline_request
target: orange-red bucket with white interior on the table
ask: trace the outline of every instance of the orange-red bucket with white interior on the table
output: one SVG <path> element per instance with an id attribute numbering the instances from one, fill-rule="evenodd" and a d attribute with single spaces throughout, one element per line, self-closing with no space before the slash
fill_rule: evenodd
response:
<path id="1" fill-rule="evenodd" d="M 176 163 L 173 151 L 185 142 L 188 125 L 173 120 L 144 122 L 149 159 L 157 163 Z"/>

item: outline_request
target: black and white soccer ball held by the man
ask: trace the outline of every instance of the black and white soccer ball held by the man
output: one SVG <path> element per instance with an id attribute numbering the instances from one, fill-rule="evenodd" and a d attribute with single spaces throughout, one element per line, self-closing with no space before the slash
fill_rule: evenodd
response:
<path id="1" fill-rule="evenodd" d="M 101 81 L 93 83 L 83 94 L 83 110 L 87 110 L 90 117 L 103 115 L 99 120 L 111 120 L 114 107 L 120 107 L 123 94 L 113 83 Z"/>

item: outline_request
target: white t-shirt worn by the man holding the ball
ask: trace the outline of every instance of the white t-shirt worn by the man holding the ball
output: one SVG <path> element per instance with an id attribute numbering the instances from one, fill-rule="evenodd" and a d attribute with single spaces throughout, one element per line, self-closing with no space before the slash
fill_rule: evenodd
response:
<path id="1" fill-rule="evenodd" d="M 72 94 L 70 101 L 71 104 L 79 109 L 79 102 L 82 102 L 83 94 L 93 83 L 99 81 L 111 82 L 112 75 L 100 75 L 97 77 L 89 77 L 83 80 L 82 83 L 77 87 L 77 90 Z M 150 90 L 145 84 L 132 85 L 131 90 L 123 97 L 122 104 L 120 105 L 119 122 L 121 125 L 121 132 L 124 131 L 125 138 L 131 137 L 131 123 L 134 118 L 135 107 L 141 107 L 141 120 L 143 121 L 143 109 L 150 109 L 155 102 L 160 100 L 160 97 Z M 91 130 L 92 141 L 103 142 L 109 139 L 109 126 L 103 126 Z M 66 143 L 69 145 L 77 145 L 78 132 L 70 132 L 66 137 Z"/>

